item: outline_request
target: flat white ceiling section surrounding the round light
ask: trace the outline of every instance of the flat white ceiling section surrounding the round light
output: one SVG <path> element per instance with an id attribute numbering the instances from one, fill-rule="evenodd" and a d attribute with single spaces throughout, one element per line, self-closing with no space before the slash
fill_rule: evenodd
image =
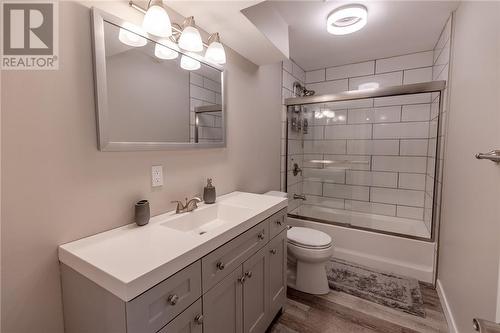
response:
<path id="1" fill-rule="evenodd" d="M 290 26 L 291 58 L 305 70 L 432 50 L 456 1 L 355 1 L 368 23 L 350 35 L 326 31 L 326 18 L 346 1 L 273 1 Z"/>

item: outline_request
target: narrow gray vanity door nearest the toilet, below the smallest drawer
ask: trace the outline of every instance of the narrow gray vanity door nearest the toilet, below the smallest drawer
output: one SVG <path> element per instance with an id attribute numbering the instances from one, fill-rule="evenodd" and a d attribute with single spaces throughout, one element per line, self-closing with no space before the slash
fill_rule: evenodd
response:
<path id="1" fill-rule="evenodd" d="M 271 316 L 274 317 L 286 302 L 286 230 L 273 238 L 267 249 L 269 251 L 269 303 Z"/>

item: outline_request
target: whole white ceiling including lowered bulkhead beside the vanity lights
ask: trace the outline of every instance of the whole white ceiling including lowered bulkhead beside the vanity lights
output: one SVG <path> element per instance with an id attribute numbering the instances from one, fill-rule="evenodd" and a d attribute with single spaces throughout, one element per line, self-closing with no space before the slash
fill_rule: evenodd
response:
<path id="1" fill-rule="evenodd" d="M 352 0 L 368 8 L 368 24 L 353 34 L 334 36 L 326 32 L 326 17 L 333 9 L 350 2 L 262 2 L 165 0 L 181 15 L 194 15 L 204 30 L 220 32 L 224 44 L 257 65 L 280 61 L 284 54 L 266 37 L 270 23 L 264 25 L 262 20 L 269 18 L 254 19 L 254 25 L 242 11 L 272 4 L 289 25 L 290 57 L 305 70 L 431 50 L 449 15 L 459 5 L 458 1 Z"/>

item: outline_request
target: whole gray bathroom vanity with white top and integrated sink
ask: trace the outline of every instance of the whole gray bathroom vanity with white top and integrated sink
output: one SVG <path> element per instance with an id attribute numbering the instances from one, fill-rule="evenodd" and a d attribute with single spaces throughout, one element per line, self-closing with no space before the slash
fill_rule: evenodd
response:
<path id="1" fill-rule="evenodd" d="M 60 246 L 65 331 L 265 332 L 286 301 L 286 206 L 234 192 Z"/>

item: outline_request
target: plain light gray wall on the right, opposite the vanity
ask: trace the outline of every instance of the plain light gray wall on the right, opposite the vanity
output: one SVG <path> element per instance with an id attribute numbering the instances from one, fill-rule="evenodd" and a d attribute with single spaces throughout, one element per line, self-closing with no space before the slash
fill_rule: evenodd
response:
<path id="1" fill-rule="evenodd" d="M 438 281 L 465 333 L 497 311 L 500 167 L 473 156 L 500 147 L 500 3 L 462 2 L 453 22 Z"/>

